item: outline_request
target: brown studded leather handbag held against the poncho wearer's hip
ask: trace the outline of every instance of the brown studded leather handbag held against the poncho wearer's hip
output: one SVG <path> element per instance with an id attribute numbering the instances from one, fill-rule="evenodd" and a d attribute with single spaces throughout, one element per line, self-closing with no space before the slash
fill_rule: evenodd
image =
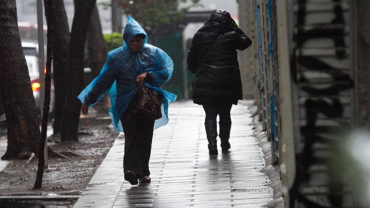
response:
<path id="1" fill-rule="evenodd" d="M 137 112 L 154 118 L 162 118 L 161 106 L 163 104 L 163 95 L 157 90 L 145 87 L 144 85 L 138 92 Z"/>

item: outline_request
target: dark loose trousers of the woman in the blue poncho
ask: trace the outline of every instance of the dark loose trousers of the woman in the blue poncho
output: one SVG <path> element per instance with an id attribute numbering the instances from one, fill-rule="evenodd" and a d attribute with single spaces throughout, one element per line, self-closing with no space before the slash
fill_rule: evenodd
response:
<path id="1" fill-rule="evenodd" d="M 123 170 L 135 171 L 138 177 L 149 176 L 154 119 L 126 110 L 121 117 L 125 134 Z"/>

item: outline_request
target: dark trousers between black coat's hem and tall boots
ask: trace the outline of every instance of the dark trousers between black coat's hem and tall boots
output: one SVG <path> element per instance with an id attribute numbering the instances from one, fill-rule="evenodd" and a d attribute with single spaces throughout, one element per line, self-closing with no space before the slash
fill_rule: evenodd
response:
<path id="1" fill-rule="evenodd" d="M 220 117 L 220 123 L 231 123 L 230 111 L 232 103 L 209 103 L 203 104 L 204 112 L 206 113 L 205 122 L 216 122 L 217 115 Z"/>

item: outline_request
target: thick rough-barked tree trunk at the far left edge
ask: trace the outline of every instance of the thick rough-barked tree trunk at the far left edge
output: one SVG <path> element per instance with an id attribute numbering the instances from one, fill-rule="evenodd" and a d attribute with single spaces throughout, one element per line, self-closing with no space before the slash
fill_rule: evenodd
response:
<path id="1" fill-rule="evenodd" d="M 26 59 L 19 37 L 15 0 L 0 0 L 0 91 L 7 119 L 8 146 L 1 159 L 38 153 L 40 128 Z"/>

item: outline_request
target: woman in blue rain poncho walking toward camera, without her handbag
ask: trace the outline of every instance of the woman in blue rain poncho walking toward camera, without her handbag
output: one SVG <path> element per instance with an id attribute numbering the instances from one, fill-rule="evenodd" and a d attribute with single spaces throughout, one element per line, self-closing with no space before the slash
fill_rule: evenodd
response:
<path id="1" fill-rule="evenodd" d="M 147 33 L 128 17 L 123 46 L 112 50 L 100 74 L 78 95 L 84 115 L 109 91 L 112 125 L 125 134 L 123 168 L 130 184 L 150 182 L 149 158 L 153 130 L 168 123 L 168 103 L 176 95 L 160 86 L 169 81 L 174 70 L 171 58 L 160 48 L 147 44 Z M 137 112 L 138 91 L 142 85 L 164 97 L 162 118 L 154 120 Z"/>

